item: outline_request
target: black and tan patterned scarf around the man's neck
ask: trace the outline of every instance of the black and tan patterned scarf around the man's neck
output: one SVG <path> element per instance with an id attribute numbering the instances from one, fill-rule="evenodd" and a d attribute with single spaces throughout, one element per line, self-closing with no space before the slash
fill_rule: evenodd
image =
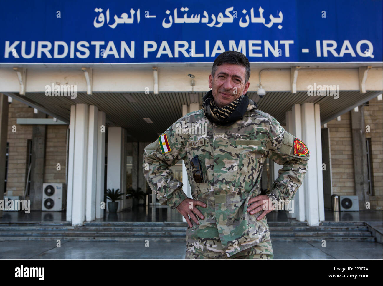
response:
<path id="1" fill-rule="evenodd" d="M 257 108 L 257 104 L 249 99 L 247 95 L 241 95 L 230 104 L 218 107 L 216 106 L 211 90 L 205 94 L 203 99 L 203 112 L 211 122 L 223 126 L 229 126 L 243 117 L 247 110 Z"/>

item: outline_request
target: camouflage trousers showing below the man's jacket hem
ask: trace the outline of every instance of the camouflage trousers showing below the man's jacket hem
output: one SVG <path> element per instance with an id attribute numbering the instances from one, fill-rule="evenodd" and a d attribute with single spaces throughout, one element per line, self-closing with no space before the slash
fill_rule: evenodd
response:
<path id="1" fill-rule="evenodd" d="M 259 244 L 242 250 L 231 257 L 228 257 L 225 252 L 202 251 L 195 247 L 188 247 L 185 259 L 274 259 L 274 254 L 270 236 L 267 236 Z"/>

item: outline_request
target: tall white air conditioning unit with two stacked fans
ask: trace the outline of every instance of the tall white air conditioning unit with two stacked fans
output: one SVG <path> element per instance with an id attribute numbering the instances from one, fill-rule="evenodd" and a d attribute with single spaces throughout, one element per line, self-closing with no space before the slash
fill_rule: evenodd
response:
<path id="1" fill-rule="evenodd" d="M 65 184 L 62 183 L 44 183 L 43 201 L 41 203 L 42 211 L 63 211 L 65 210 L 66 192 Z"/>

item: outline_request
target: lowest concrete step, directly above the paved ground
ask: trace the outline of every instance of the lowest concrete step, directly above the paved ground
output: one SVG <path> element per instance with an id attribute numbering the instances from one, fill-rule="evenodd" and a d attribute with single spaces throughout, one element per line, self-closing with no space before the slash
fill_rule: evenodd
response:
<path id="1" fill-rule="evenodd" d="M 51 242 L 54 239 L 62 240 L 74 240 L 74 241 L 92 241 L 92 242 L 142 242 L 144 243 L 147 238 L 145 237 L 0 237 L 0 241 L 28 241 L 28 240 L 38 240 L 38 241 L 49 241 Z M 272 242 L 322 242 L 323 237 L 271 237 Z M 150 237 L 150 242 L 185 242 L 185 237 Z M 375 242 L 375 237 L 327 237 L 326 242 Z"/>

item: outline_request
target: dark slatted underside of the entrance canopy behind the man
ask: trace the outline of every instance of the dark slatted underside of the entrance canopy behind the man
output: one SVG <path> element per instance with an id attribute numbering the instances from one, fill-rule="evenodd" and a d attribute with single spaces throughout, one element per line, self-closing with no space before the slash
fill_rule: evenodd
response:
<path id="1" fill-rule="evenodd" d="M 336 118 L 344 112 L 375 98 L 379 92 L 340 91 L 339 98 L 334 96 L 308 96 L 307 91 L 292 94 L 286 92 L 270 92 L 259 99 L 256 92 L 250 92 L 259 109 L 275 117 L 282 125 L 286 124 L 286 111 L 293 104 L 304 102 L 319 103 L 321 107 L 321 124 Z M 78 103 L 95 105 L 106 113 L 106 122 L 110 127 L 120 126 L 127 130 L 129 141 L 154 141 L 159 133 L 164 132 L 178 118 L 182 117 L 182 105 L 190 105 L 196 95 L 201 104 L 205 92 L 160 92 L 159 94 L 145 93 L 102 93 L 92 95 L 77 93 L 76 99 L 68 96 L 46 96 L 44 93 L 5 93 L 21 102 L 36 107 L 57 119 L 69 123 L 70 106 Z M 334 104 L 336 102 L 336 104 Z M 144 118 L 150 118 L 153 123 L 147 123 Z"/>

